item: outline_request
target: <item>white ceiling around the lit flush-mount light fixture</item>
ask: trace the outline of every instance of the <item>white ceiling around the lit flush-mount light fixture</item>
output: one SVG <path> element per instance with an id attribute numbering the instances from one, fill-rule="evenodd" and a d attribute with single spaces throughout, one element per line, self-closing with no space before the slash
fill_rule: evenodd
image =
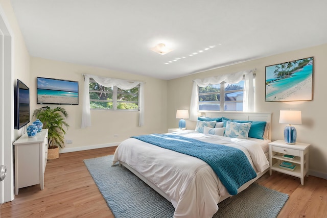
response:
<path id="1" fill-rule="evenodd" d="M 11 3 L 31 56 L 165 80 L 327 43 L 325 0 Z"/>

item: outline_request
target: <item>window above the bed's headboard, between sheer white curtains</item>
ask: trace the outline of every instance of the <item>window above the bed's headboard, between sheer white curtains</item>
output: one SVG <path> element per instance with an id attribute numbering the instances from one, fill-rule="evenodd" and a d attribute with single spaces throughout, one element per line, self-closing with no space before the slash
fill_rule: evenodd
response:
<path id="1" fill-rule="evenodd" d="M 199 111 L 243 111 L 244 80 L 199 87 Z M 224 96 L 224 98 L 221 98 Z"/>

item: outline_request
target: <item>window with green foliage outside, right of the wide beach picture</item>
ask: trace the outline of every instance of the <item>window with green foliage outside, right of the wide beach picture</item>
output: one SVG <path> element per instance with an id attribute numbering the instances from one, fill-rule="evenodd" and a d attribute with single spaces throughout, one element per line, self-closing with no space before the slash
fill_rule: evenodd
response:
<path id="1" fill-rule="evenodd" d="M 90 109 L 139 110 L 139 85 L 134 88 L 124 90 L 116 86 L 101 86 L 90 78 L 89 95 Z"/>

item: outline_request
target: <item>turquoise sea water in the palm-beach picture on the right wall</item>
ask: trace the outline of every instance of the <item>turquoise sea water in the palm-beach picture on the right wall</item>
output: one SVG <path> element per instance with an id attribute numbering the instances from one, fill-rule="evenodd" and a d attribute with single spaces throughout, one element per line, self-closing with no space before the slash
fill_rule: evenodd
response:
<path id="1" fill-rule="evenodd" d="M 282 93 L 283 91 L 294 87 L 295 85 L 301 83 L 302 81 L 305 81 L 309 77 L 312 77 L 312 72 L 313 72 L 313 65 L 308 64 L 304 66 L 302 69 L 292 74 L 288 78 L 279 79 L 269 83 L 269 86 L 271 86 L 270 87 L 271 91 L 269 93 L 266 93 L 266 99 L 271 98 L 271 96 L 278 95 L 278 93 Z M 266 80 L 266 82 L 269 82 L 270 80 Z"/>

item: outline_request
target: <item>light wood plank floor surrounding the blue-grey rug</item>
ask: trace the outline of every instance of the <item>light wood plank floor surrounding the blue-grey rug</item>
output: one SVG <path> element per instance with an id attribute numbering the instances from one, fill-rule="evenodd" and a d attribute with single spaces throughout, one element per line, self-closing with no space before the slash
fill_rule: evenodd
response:
<path id="1" fill-rule="evenodd" d="M 19 189 L 12 202 L 1 207 L 1 217 L 108 217 L 114 218 L 83 159 L 113 154 L 115 147 L 59 154 L 48 160 L 44 190 L 40 185 Z M 327 180 L 309 176 L 300 179 L 269 172 L 258 183 L 290 197 L 278 218 L 327 217 Z"/>

